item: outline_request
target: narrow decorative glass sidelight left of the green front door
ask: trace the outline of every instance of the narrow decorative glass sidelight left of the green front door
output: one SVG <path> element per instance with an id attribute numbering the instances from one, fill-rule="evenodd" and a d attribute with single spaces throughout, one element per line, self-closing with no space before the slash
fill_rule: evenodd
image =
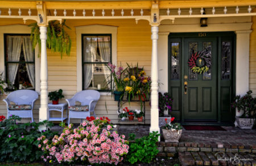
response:
<path id="1" fill-rule="evenodd" d="M 180 68 L 180 43 L 171 43 L 171 78 L 172 80 L 179 80 L 179 68 Z"/>

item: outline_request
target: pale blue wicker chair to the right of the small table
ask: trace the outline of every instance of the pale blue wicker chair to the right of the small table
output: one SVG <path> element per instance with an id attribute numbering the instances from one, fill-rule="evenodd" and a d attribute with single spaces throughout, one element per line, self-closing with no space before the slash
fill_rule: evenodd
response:
<path id="1" fill-rule="evenodd" d="M 97 90 L 82 90 L 76 93 L 71 99 L 66 99 L 69 110 L 68 124 L 70 118 L 81 119 L 82 122 L 82 119 L 90 117 L 90 113 L 93 113 L 93 116 L 96 117 L 94 108 L 98 99 L 100 99 L 100 92 Z M 76 105 L 76 102 L 80 102 L 81 105 Z"/>

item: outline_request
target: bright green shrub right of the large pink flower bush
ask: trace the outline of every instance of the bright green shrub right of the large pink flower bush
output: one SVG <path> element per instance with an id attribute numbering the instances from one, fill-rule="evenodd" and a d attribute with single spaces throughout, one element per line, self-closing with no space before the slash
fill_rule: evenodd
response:
<path id="1" fill-rule="evenodd" d="M 158 132 L 151 132 L 147 136 L 136 139 L 134 143 L 130 143 L 130 150 L 126 156 L 126 161 L 134 164 L 138 161 L 142 163 L 150 163 L 158 154 L 156 142 L 158 142 Z M 130 139 L 134 140 L 135 135 L 130 134 Z"/>

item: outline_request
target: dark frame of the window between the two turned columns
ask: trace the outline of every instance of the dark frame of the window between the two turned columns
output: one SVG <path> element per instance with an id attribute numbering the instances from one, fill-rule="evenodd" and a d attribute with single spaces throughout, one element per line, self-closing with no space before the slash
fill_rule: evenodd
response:
<path id="1" fill-rule="evenodd" d="M 84 89 L 84 65 L 85 64 L 108 64 L 108 63 L 105 63 L 105 62 L 85 62 L 84 61 L 84 36 L 110 36 L 110 63 L 112 63 L 112 34 L 81 34 L 81 47 L 82 47 L 82 90 L 86 90 Z M 111 77 L 111 82 L 110 82 L 110 89 L 109 90 L 98 90 L 98 92 L 111 92 L 112 91 L 112 74 L 110 74 L 110 77 Z"/>

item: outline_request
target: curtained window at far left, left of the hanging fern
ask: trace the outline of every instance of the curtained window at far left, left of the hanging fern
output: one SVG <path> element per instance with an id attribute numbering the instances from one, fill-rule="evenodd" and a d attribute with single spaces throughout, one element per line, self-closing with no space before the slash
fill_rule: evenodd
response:
<path id="1" fill-rule="evenodd" d="M 5 34 L 5 72 L 9 90 L 35 89 L 35 53 L 30 34 Z"/>

